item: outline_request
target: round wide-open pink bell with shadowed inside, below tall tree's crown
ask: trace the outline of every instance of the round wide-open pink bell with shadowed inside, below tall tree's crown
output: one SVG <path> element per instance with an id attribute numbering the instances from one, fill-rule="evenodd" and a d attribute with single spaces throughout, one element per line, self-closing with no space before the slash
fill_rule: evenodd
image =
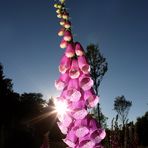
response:
<path id="1" fill-rule="evenodd" d="M 93 80 L 89 75 L 81 75 L 79 85 L 84 91 L 89 90 L 93 86 Z"/>

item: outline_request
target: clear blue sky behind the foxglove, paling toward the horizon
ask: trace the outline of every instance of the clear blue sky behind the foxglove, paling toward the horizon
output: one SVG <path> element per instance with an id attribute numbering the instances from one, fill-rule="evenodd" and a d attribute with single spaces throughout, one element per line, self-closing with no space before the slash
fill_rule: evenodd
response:
<path id="1" fill-rule="evenodd" d="M 18 93 L 57 96 L 54 81 L 64 50 L 54 0 L 0 0 L 0 62 Z M 74 40 L 98 44 L 108 62 L 100 85 L 102 112 L 111 119 L 114 98 L 132 101 L 129 121 L 148 111 L 148 1 L 67 0 Z"/>

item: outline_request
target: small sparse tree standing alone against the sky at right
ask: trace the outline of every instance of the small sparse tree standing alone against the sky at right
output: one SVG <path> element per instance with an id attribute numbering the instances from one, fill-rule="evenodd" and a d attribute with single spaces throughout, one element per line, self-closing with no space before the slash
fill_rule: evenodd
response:
<path id="1" fill-rule="evenodd" d="M 114 110 L 117 112 L 123 127 L 125 126 L 125 122 L 127 121 L 127 116 L 131 106 L 132 102 L 126 100 L 123 95 L 116 97 L 114 100 Z"/>

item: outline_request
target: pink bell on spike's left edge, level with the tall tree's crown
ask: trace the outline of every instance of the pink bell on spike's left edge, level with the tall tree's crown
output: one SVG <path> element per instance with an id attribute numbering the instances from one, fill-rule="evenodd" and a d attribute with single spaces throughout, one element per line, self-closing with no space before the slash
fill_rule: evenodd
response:
<path id="1" fill-rule="evenodd" d="M 59 65 L 59 71 L 64 74 L 71 66 L 71 59 L 67 58 L 65 55 L 62 57 L 60 65 Z"/>

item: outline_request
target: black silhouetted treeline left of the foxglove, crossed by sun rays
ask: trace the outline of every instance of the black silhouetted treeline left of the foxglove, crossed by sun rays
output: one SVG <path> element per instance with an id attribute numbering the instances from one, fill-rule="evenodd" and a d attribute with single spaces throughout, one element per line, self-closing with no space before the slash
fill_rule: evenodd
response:
<path id="1" fill-rule="evenodd" d="M 51 141 L 61 141 L 52 111 L 53 102 L 42 94 L 14 92 L 0 64 L 0 148 L 40 148 L 47 133 Z"/>

